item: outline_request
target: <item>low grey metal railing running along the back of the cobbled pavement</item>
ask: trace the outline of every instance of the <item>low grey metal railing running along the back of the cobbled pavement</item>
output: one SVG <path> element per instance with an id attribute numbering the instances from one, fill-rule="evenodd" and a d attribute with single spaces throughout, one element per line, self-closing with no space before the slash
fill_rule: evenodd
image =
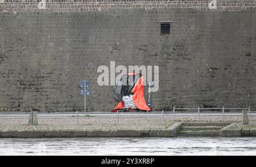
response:
<path id="1" fill-rule="evenodd" d="M 189 111 L 188 112 L 182 112 L 177 113 L 178 111 Z M 214 110 L 214 112 L 208 112 L 204 113 L 204 111 Z M 241 112 L 226 112 L 227 110 L 241 110 Z M 250 107 L 249 108 L 225 108 L 222 106 L 222 108 L 173 108 L 172 111 L 166 111 L 164 112 L 87 112 L 84 114 L 83 112 L 72 112 L 72 113 L 37 113 L 38 119 L 46 118 L 76 118 L 76 125 L 79 125 L 79 119 L 86 119 L 86 118 L 113 118 L 116 119 L 116 124 L 119 123 L 119 118 L 161 118 L 162 124 L 164 125 L 164 117 L 173 117 L 174 120 L 177 116 L 179 117 L 186 117 L 186 116 L 197 116 L 198 121 L 200 121 L 200 117 L 203 115 L 207 116 L 222 116 L 223 119 L 228 116 L 242 116 L 243 110 L 248 110 L 248 117 L 251 119 L 251 117 L 256 116 L 256 112 L 251 112 Z M 192 113 L 191 113 L 192 112 Z M 251 115 L 251 113 L 255 113 Z M 14 115 L 10 117 L 11 115 Z M 16 116 L 15 116 L 16 115 Z M 0 113 L 0 119 L 23 119 L 28 118 L 30 113 Z M 50 116 L 49 116 L 50 115 Z M 81 115 L 84 115 L 84 117 L 80 117 Z"/>

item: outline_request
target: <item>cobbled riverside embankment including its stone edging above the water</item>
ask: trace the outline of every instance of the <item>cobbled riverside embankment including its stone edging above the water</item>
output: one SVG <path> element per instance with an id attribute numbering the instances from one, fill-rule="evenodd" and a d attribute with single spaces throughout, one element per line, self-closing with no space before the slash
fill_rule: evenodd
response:
<path id="1" fill-rule="evenodd" d="M 200 122 L 226 122 L 230 124 L 240 121 L 238 119 L 240 118 L 232 117 L 223 120 L 222 117 L 205 117 L 201 118 Z M 177 117 L 175 120 L 172 117 L 167 117 L 164 118 L 164 125 L 162 118 L 119 118 L 118 125 L 116 119 L 113 118 L 79 118 L 79 125 L 76 125 L 75 118 L 39 118 L 38 122 L 39 125 L 28 125 L 27 118 L 0 119 L 0 137 L 168 137 L 178 135 L 177 132 L 181 129 L 181 123 L 177 122 L 198 122 L 198 120 L 197 117 Z M 225 127 L 220 130 L 220 136 L 240 136 L 240 134 L 241 136 L 248 136 L 248 133 L 249 136 L 256 136 L 253 129 L 256 121 L 251 122 L 254 124 L 250 124 L 250 127 L 247 127 L 245 130 L 241 130 L 241 133 L 236 129 L 230 131 L 229 127 Z M 195 123 L 193 126 L 196 126 Z M 186 130 L 189 130 L 189 128 L 193 129 L 194 127 L 185 127 Z M 202 131 L 205 130 L 205 127 L 197 128 Z M 214 128 L 216 127 L 210 127 L 212 130 Z M 243 128 L 238 127 L 237 129 Z M 204 132 L 204 136 L 208 135 Z"/>

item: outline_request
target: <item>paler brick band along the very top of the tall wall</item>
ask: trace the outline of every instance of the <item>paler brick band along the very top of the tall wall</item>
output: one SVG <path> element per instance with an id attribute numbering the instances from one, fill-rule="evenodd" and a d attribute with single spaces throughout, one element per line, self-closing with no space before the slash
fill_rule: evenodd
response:
<path id="1" fill-rule="evenodd" d="M 38 8 L 40 0 L 0 0 L 0 12 L 32 12 L 42 11 Z M 46 0 L 44 12 L 78 12 L 124 10 L 126 8 L 188 8 L 207 10 L 210 0 Z M 2 5 L 1 5 L 2 4 Z M 218 0 L 218 10 L 247 10 L 256 7 L 250 0 Z"/>

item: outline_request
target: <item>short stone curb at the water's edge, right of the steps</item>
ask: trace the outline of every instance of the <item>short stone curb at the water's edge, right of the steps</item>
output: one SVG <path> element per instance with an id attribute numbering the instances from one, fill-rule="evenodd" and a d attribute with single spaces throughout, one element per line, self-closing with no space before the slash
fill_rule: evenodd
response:
<path id="1" fill-rule="evenodd" d="M 231 137 L 231 136 L 256 136 L 256 129 L 233 129 L 230 128 L 234 126 L 236 123 L 232 123 L 220 130 L 220 136 L 222 137 Z"/>

